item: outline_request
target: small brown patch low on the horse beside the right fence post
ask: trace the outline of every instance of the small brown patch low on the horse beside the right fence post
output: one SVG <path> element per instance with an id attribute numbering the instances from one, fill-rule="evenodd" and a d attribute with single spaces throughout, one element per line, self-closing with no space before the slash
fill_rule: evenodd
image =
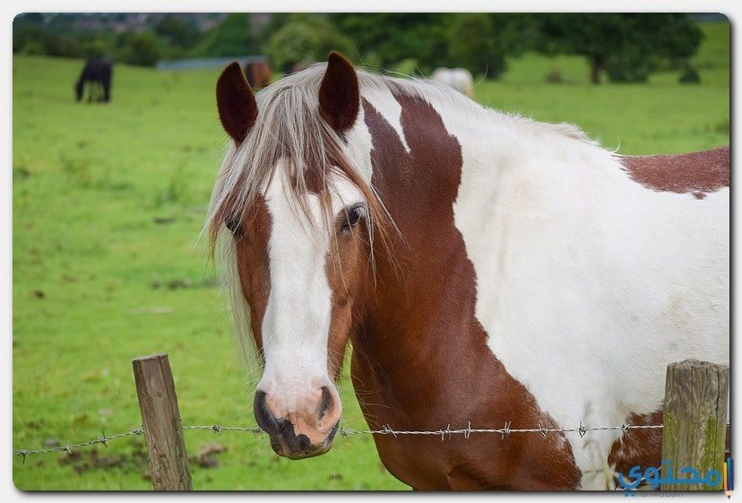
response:
<path id="1" fill-rule="evenodd" d="M 631 414 L 626 418 L 628 424 L 662 424 L 662 411 L 650 414 Z M 608 453 L 608 465 L 614 466 L 617 473 L 628 476 L 637 464 L 642 471 L 648 467 L 660 468 L 662 463 L 662 430 L 630 429 L 618 438 Z"/>

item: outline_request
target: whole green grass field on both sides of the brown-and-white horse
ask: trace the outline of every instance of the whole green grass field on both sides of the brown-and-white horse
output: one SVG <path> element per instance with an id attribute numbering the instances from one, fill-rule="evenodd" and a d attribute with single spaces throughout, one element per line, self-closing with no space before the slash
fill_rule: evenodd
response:
<path id="1" fill-rule="evenodd" d="M 729 24 L 704 24 L 703 83 L 677 73 L 647 84 L 588 82 L 581 58 L 527 55 L 487 105 L 582 126 L 623 153 L 687 152 L 729 143 Z M 80 61 L 13 58 L 13 448 L 43 448 L 140 422 L 130 360 L 166 351 L 183 421 L 252 425 L 252 385 L 197 241 L 225 148 L 218 70 L 165 73 L 118 65 L 113 101 L 78 104 Z M 545 83 L 558 70 L 565 82 Z M 347 373 L 346 426 L 363 428 Z M 444 426 L 444 425 L 442 425 Z M 291 462 L 266 438 L 186 432 L 198 490 L 401 490 L 371 438 L 339 438 Z M 207 466 L 215 460 L 216 467 Z M 147 490 L 143 438 L 74 456 L 13 459 L 23 490 Z"/>

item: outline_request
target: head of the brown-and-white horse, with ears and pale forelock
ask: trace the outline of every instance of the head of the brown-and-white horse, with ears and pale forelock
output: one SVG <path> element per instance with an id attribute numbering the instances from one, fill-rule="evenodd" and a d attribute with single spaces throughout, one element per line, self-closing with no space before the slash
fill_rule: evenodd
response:
<path id="1" fill-rule="evenodd" d="M 211 237 L 227 239 L 232 308 L 245 309 L 263 361 L 255 419 L 275 452 L 293 459 L 332 446 L 335 380 L 373 284 L 381 213 L 343 141 L 358 116 L 356 72 L 332 53 L 321 82 L 315 74 L 254 94 L 233 63 L 216 90 L 233 142 L 211 198 Z"/>

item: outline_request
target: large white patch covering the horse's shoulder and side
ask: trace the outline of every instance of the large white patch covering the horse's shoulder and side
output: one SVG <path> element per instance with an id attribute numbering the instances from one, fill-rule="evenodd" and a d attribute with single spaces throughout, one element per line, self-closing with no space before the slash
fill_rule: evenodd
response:
<path id="1" fill-rule="evenodd" d="M 476 316 L 560 427 L 656 411 L 673 361 L 729 362 L 729 188 L 647 191 L 560 126 L 432 104 L 462 144 L 453 211 Z M 582 488 L 604 489 L 620 432 L 567 438 Z"/>

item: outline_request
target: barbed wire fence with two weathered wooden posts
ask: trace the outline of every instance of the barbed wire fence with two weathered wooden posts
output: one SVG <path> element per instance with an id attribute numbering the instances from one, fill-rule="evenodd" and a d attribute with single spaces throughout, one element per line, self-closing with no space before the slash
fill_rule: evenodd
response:
<path id="1" fill-rule="evenodd" d="M 67 453 L 73 455 L 77 449 L 103 445 L 129 437 L 146 438 L 150 452 L 150 473 L 155 490 L 193 490 L 186 444 L 185 430 L 209 430 L 214 434 L 222 432 L 263 435 L 257 426 L 223 426 L 220 424 L 183 424 L 177 405 L 175 384 L 167 354 L 151 355 L 133 360 L 134 380 L 137 387 L 139 408 L 142 412 L 142 426 L 114 435 L 103 432 L 97 438 L 47 447 L 43 449 L 16 449 L 13 455 L 21 456 L 23 464 L 29 455 Z M 547 438 L 549 434 L 579 435 L 584 438 L 591 432 L 620 431 L 627 434 L 632 430 L 662 430 L 662 459 L 672 459 L 675 463 L 695 466 L 699 471 L 718 468 L 713 461 L 725 452 L 728 439 L 729 422 L 727 403 L 729 399 L 729 366 L 712 364 L 697 360 L 685 360 L 668 366 L 666 379 L 664 412 L 665 419 L 672 416 L 671 424 L 632 424 L 615 426 L 586 426 L 580 421 L 574 428 L 513 428 L 512 421 L 505 421 L 501 428 L 472 428 L 469 421 L 466 427 L 441 429 L 393 429 L 384 425 L 381 429 L 352 429 L 339 425 L 335 436 L 347 438 L 359 435 L 384 435 L 400 437 L 439 437 L 442 442 L 453 438 L 468 440 L 471 435 L 496 435 L 506 441 L 510 435 L 538 435 Z M 709 420 L 713 428 L 708 428 Z M 726 428 L 724 426 L 726 425 Z M 681 430 L 684 432 L 681 434 Z M 689 435 L 688 431 L 695 431 Z M 657 469 L 655 469 L 657 470 Z M 699 472 L 701 473 L 701 472 Z M 656 484 L 655 484 L 656 485 Z M 702 484 L 678 487 L 668 481 L 663 490 L 709 490 Z M 726 490 L 726 487 L 725 487 Z"/>

